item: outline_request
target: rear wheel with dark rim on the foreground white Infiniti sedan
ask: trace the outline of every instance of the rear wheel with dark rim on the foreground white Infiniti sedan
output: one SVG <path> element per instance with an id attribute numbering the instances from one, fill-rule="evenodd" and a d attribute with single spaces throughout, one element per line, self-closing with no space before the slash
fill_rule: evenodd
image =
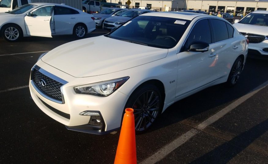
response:
<path id="1" fill-rule="evenodd" d="M 233 67 L 230 71 L 226 84 L 228 86 L 235 86 L 240 77 L 240 74 L 242 73 L 242 70 L 243 70 L 243 60 L 241 57 L 238 57 L 233 63 Z"/>

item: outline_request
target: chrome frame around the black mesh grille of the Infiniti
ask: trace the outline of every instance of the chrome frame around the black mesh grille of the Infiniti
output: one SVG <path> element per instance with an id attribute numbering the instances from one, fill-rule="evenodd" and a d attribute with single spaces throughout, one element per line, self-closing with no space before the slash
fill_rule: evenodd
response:
<path id="1" fill-rule="evenodd" d="M 34 67 L 32 67 L 32 70 L 31 70 L 31 84 L 32 84 L 32 86 L 35 88 L 35 90 L 36 90 L 41 96 L 45 97 L 46 99 L 48 99 L 48 100 L 50 100 L 50 101 L 53 101 L 53 102 L 56 102 L 56 103 L 59 103 L 59 104 L 65 104 L 65 101 L 64 101 L 64 95 L 63 95 L 63 92 L 62 92 L 62 91 L 63 91 L 63 90 L 62 90 L 62 87 L 63 87 L 63 86 L 61 86 L 61 97 L 62 97 L 62 101 L 59 101 L 59 100 L 56 100 L 56 99 L 54 99 L 54 98 L 48 97 L 47 95 L 45 95 L 45 94 L 43 93 L 42 90 L 39 90 L 39 89 L 36 87 L 35 82 L 32 80 L 32 71 L 33 71 L 34 69 L 38 70 L 39 72 L 41 72 L 42 74 L 46 75 L 47 77 L 52 78 L 53 80 L 56 80 L 56 81 L 62 83 L 63 86 L 64 86 L 65 84 L 67 84 L 68 82 L 65 81 L 65 80 L 63 80 L 62 78 L 59 78 L 58 76 L 55 76 L 54 74 L 49 73 L 48 71 L 44 70 L 43 68 L 39 67 L 38 65 L 35 65 Z"/>

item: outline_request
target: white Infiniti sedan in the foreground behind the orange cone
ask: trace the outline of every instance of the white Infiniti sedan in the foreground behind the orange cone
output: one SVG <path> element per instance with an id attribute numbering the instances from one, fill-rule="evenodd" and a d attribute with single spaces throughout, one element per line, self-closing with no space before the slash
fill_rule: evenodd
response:
<path id="1" fill-rule="evenodd" d="M 174 102 L 239 83 L 247 51 L 246 37 L 222 18 L 146 13 L 104 36 L 42 54 L 29 88 L 36 105 L 70 130 L 115 131 L 124 109 L 133 108 L 136 131 L 143 132 Z"/>

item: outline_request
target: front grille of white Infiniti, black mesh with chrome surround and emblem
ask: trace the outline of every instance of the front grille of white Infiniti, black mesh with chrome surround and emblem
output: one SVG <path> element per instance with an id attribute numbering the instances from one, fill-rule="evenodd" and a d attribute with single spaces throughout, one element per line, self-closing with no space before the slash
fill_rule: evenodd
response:
<path id="1" fill-rule="evenodd" d="M 44 83 L 42 83 L 42 81 Z M 32 86 L 39 94 L 51 101 L 64 104 L 64 97 L 61 87 L 66 83 L 68 82 L 45 71 L 37 65 L 32 68 Z"/>

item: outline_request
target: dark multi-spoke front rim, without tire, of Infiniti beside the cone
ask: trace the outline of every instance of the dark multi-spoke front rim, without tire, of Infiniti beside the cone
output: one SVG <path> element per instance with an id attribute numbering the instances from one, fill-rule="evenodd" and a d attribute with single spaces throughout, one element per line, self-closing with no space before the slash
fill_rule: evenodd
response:
<path id="1" fill-rule="evenodd" d="M 136 131 L 146 130 L 159 112 L 160 98 L 154 90 L 143 92 L 134 102 L 132 108 L 135 116 Z"/>

